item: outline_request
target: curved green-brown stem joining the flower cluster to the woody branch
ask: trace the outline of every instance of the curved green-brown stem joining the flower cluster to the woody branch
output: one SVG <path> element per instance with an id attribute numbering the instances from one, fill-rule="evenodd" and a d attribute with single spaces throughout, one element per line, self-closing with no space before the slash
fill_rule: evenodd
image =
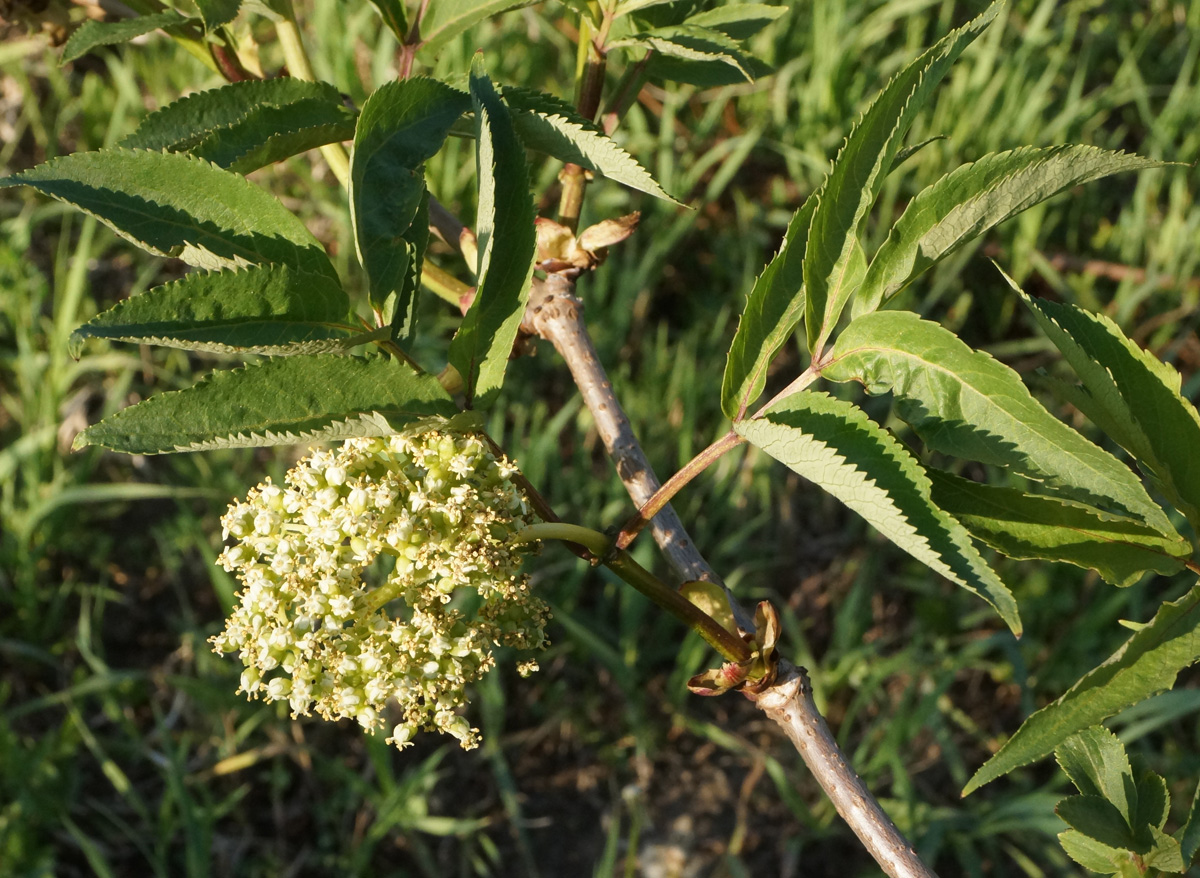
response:
<path id="1" fill-rule="evenodd" d="M 530 524 L 518 530 L 514 539 L 520 542 L 563 540 L 583 546 L 600 559 L 604 566 L 703 637 L 708 645 L 727 661 L 744 662 L 750 660 L 750 648 L 740 637 L 722 629 L 713 617 L 650 573 L 628 552 L 616 549 L 612 540 L 599 530 L 582 528 L 577 524 Z"/>

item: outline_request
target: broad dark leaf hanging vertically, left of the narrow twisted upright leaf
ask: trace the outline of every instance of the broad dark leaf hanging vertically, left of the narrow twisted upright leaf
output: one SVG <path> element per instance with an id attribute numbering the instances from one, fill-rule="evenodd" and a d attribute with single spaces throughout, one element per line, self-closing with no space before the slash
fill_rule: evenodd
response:
<path id="1" fill-rule="evenodd" d="M 446 138 L 470 98 L 434 79 L 388 83 L 362 104 L 350 157 L 350 220 L 371 305 L 391 300 L 401 326 L 412 329 L 416 284 L 409 230 L 425 198 L 425 162 Z M 408 237 L 406 237 L 408 235 Z M 406 330 L 406 331 L 408 331 Z"/>

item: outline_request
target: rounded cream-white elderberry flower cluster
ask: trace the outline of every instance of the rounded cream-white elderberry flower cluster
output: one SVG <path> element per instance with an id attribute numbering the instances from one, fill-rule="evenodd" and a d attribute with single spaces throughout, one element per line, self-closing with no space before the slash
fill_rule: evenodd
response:
<path id="1" fill-rule="evenodd" d="M 467 684 L 494 645 L 545 647 L 547 607 L 520 572 L 529 546 L 512 539 L 533 521 L 515 471 L 474 435 L 350 439 L 234 503 L 218 563 L 244 588 L 212 647 L 239 654 L 240 691 L 368 729 L 395 699 L 389 742 L 427 728 L 478 746 Z"/>

